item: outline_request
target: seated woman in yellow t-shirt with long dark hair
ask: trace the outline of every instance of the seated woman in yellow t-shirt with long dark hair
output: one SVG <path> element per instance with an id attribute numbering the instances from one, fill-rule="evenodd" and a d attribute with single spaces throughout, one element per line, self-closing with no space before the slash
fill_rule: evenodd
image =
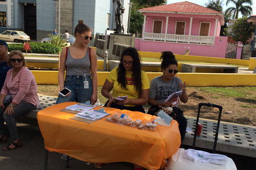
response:
<path id="1" fill-rule="evenodd" d="M 113 89 L 113 94 L 110 91 Z M 141 70 L 140 58 L 135 48 L 126 48 L 118 67 L 111 70 L 101 89 L 101 94 L 109 98 L 105 107 L 126 109 L 145 113 L 142 105 L 148 102 L 149 80 Z M 123 101 L 114 100 L 127 96 Z"/>

